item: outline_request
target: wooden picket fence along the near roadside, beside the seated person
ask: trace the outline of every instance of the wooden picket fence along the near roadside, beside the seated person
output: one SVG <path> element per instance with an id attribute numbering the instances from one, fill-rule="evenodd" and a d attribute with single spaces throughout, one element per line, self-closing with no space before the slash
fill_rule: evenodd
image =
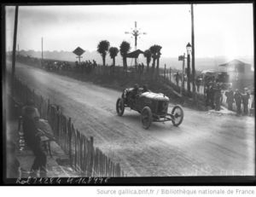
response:
<path id="1" fill-rule="evenodd" d="M 21 103 L 28 99 L 35 102 L 42 119 L 47 119 L 52 127 L 56 142 L 68 154 L 70 164 L 81 177 L 124 177 L 119 164 L 113 163 L 99 148 L 94 147 L 93 137 L 85 137 L 74 128 L 71 118 L 61 113 L 60 107 L 51 104 L 49 99 L 38 96 L 20 79 L 15 78 L 15 98 Z"/>

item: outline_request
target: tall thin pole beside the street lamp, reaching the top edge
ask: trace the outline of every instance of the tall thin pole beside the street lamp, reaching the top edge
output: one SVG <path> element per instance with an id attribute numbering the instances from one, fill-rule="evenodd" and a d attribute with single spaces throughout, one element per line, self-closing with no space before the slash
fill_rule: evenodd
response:
<path id="1" fill-rule="evenodd" d="M 191 42 L 192 42 L 192 85 L 193 100 L 195 101 L 195 34 L 194 34 L 194 8 L 191 4 Z"/>

